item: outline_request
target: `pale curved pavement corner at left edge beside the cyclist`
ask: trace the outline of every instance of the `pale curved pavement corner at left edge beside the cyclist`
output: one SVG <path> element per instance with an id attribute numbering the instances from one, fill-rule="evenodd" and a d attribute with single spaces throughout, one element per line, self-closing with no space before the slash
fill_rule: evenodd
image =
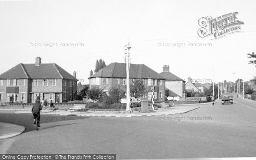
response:
<path id="1" fill-rule="evenodd" d="M 0 122 L 0 139 L 6 139 L 20 135 L 25 130 L 21 125 Z"/>

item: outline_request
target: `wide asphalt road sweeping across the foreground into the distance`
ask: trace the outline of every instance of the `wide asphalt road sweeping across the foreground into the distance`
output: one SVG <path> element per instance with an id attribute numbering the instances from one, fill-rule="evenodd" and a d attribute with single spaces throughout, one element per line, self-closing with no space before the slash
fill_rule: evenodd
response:
<path id="1" fill-rule="evenodd" d="M 39 131 L 31 115 L 0 113 L 0 121 L 26 127 L 20 136 L 0 140 L 0 148 L 8 154 L 99 153 L 117 159 L 256 157 L 256 103 L 234 100 L 170 116 L 43 115 Z"/>

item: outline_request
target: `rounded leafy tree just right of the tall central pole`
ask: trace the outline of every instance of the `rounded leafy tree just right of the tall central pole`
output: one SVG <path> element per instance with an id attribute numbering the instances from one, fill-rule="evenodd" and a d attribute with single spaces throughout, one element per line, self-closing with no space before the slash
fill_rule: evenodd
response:
<path id="1" fill-rule="evenodd" d="M 140 98 L 146 93 L 146 87 L 142 79 L 134 79 L 130 84 L 131 96 L 135 98 Z"/>

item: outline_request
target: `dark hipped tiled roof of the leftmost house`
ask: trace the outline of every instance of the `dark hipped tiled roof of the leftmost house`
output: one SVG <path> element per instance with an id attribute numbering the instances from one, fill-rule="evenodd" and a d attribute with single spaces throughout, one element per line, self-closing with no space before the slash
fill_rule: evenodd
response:
<path id="1" fill-rule="evenodd" d="M 70 73 L 54 63 L 40 64 L 17 64 L 10 70 L 0 75 L 0 79 L 73 79 Z"/>

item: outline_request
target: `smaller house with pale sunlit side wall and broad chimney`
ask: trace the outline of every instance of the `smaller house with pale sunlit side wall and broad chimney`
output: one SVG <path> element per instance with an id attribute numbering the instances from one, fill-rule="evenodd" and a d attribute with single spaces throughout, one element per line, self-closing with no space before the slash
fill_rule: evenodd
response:
<path id="1" fill-rule="evenodd" d="M 163 72 L 159 74 L 166 79 L 165 86 L 167 97 L 179 96 L 185 98 L 185 81 L 171 73 L 169 65 L 163 65 Z"/>

